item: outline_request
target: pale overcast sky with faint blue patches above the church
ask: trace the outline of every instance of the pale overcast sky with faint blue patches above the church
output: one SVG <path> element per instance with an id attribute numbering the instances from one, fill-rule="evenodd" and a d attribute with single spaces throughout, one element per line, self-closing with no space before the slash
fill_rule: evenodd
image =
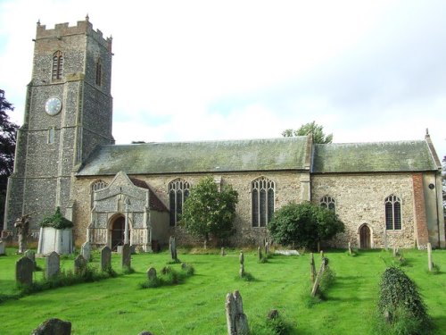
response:
<path id="1" fill-rule="evenodd" d="M 113 135 L 423 139 L 446 155 L 446 1 L 0 0 L 0 88 L 22 123 L 36 22 L 113 38 Z"/>

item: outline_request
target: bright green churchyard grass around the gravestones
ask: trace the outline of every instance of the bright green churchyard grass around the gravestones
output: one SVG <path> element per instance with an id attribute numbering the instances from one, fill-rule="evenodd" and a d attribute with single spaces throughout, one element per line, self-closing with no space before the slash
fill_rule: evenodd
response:
<path id="1" fill-rule="evenodd" d="M 14 282 L 18 255 L 8 249 L 0 257 L 0 295 L 17 294 Z M 245 271 L 254 281 L 238 277 L 239 250 L 226 250 L 222 257 L 180 252 L 182 262 L 194 266 L 194 275 L 178 285 L 140 289 L 146 281 L 146 270 L 157 272 L 170 261 L 167 252 L 132 255 L 135 272 L 124 274 L 120 255 L 112 255 L 116 278 L 37 292 L 0 304 L 1 334 L 29 334 L 51 317 L 72 322 L 73 334 L 137 334 L 152 331 L 161 334 L 226 334 L 225 298 L 238 289 L 244 299 L 254 334 L 268 334 L 266 316 L 276 308 L 291 334 L 374 334 L 374 315 L 378 282 L 386 264 L 394 263 L 392 252 L 359 251 L 351 257 L 344 250 L 326 251 L 335 282 L 324 293 L 324 299 L 308 306 L 302 298 L 309 289 L 309 254 L 275 255 L 260 264 L 256 250 L 245 252 Z M 428 314 L 434 321 L 434 334 L 446 330 L 446 251 L 434 250 L 434 263 L 440 272 L 426 272 L 425 252 L 404 250 L 403 267 L 417 283 Z M 70 270 L 74 257 L 62 259 L 62 267 Z M 318 268 L 320 259 L 315 257 Z M 99 255 L 94 255 L 97 265 Z M 44 268 L 43 259 L 37 265 Z M 180 271 L 181 264 L 169 264 Z M 42 272 L 35 272 L 36 280 Z M 270 332 L 269 332 L 270 333 Z"/>

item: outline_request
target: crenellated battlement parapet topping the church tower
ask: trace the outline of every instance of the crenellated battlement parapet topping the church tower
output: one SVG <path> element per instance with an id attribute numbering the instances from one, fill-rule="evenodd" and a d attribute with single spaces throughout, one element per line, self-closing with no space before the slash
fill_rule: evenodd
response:
<path id="1" fill-rule="evenodd" d="M 93 29 L 93 24 L 88 20 L 88 16 L 85 21 L 78 21 L 76 26 L 70 26 L 69 22 L 57 23 L 54 25 L 54 29 L 46 29 L 45 24 L 37 22 L 36 39 L 44 38 L 63 38 L 72 35 L 88 35 L 94 38 L 99 44 L 106 47 L 111 51 L 112 38 L 103 38 L 103 32 L 99 29 Z"/>

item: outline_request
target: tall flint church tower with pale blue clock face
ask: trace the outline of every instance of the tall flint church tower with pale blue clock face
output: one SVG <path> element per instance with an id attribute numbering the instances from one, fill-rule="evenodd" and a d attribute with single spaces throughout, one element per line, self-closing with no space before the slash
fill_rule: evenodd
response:
<path id="1" fill-rule="evenodd" d="M 111 136 L 111 38 L 88 21 L 37 22 L 32 78 L 9 180 L 4 230 L 31 215 L 31 229 L 57 206 L 72 218 L 73 172 Z"/>

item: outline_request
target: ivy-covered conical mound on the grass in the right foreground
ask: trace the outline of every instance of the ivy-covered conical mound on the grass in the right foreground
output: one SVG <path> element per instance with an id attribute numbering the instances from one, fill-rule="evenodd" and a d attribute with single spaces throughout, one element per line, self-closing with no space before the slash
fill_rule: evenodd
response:
<path id="1" fill-rule="evenodd" d="M 377 309 L 394 334 L 425 334 L 431 328 L 417 285 L 399 267 L 384 271 Z"/>

